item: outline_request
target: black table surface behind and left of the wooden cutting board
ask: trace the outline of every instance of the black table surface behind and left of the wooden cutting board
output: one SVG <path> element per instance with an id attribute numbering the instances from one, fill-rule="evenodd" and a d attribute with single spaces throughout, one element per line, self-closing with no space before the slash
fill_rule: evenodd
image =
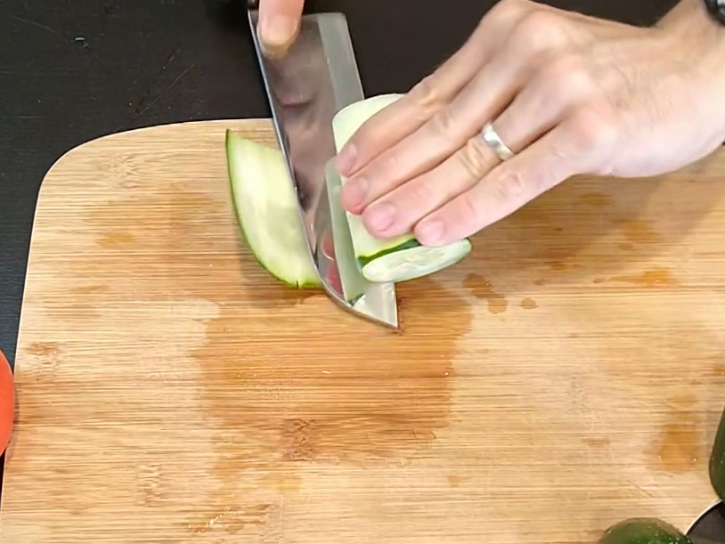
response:
<path id="1" fill-rule="evenodd" d="M 648 25 L 676 1 L 547 3 Z M 493 4 L 330 0 L 308 9 L 346 13 L 365 92 L 375 94 L 408 90 Z M 243 7 L 234 0 L 0 1 L 0 348 L 11 363 L 37 191 L 57 158 L 142 126 L 269 116 Z"/>

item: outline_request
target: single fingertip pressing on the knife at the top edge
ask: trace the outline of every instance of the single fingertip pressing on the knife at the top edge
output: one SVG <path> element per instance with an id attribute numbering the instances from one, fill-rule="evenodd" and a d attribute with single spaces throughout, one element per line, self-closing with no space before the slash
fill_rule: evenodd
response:
<path id="1" fill-rule="evenodd" d="M 270 53 L 283 53 L 297 37 L 305 0 L 262 0 L 259 41 Z"/>

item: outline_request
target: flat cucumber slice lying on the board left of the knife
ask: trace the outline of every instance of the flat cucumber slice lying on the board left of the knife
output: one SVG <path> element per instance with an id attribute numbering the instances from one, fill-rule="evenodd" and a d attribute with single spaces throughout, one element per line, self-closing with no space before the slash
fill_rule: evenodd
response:
<path id="1" fill-rule="evenodd" d="M 289 286 L 320 287 L 281 150 L 227 130 L 226 158 L 234 211 L 259 264 Z"/>

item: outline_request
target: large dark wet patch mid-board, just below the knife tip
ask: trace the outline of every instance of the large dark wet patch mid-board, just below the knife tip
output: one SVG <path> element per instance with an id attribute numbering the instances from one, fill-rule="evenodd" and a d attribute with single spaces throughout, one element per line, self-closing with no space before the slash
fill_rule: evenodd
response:
<path id="1" fill-rule="evenodd" d="M 207 417 L 224 430 L 216 449 L 225 474 L 262 459 L 404 457 L 436 439 L 448 426 L 456 343 L 472 315 L 432 280 L 400 290 L 403 334 L 317 304 L 327 316 L 289 312 L 276 327 L 268 316 L 269 330 L 250 336 L 245 305 L 220 306 L 206 345 L 191 356 L 204 374 Z M 248 338 L 243 352 L 230 349 L 239 338 Z"/>

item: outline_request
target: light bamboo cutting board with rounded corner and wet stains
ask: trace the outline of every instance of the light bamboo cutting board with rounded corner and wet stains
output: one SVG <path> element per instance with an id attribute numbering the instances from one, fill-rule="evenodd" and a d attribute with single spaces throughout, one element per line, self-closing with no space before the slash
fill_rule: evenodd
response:
<path id="1" fill-rule="evenodd" d="M 232 127 L 114 134 L 40 193 L 3 544 L 594 542 L 714 500 L 725 153 L 577 178 L 399 288 L 398 332 L 262 271 Z"/>

